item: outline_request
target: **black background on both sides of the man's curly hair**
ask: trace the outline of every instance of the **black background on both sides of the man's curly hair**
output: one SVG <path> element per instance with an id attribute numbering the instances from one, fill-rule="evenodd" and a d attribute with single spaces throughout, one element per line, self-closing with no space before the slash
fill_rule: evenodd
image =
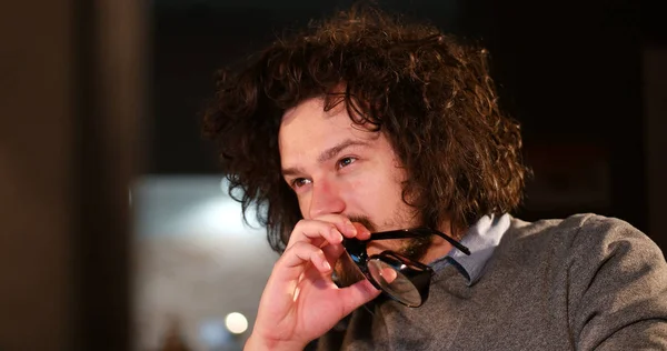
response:
<path id="1" fill-rule="evenodd" d="M 351 1 L 157 1 L 149 172 L 216 173 L 198 118 L 215 70 Z M 665 43 L 650 4 L 618 1 L 380 1 L 491 52 L 501 104 L 535 171 L 517 215 L 623 218 L 648 231 L 643 50 Z"/>

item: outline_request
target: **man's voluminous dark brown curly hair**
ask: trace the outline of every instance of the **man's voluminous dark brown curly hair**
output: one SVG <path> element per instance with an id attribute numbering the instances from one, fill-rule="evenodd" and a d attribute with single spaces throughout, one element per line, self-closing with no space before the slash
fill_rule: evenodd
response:
<path id="1" fill-rule="evenodd" d="M 282 114 L 322 97 L 384 132 L 408 174 L 402 199 L 425 225 L 465 229 L 518 207 L 529 173 L 519 124 L 500 111 L 488 52 L 427 23 L 351 9 L 276 40 L 238 70 L 221 70 L 202 133 L 219 148 L 229 193 L 281 252 L 301 219 L 281 178 Z M 240 193 L 237 191 L 240 190 Z"/>

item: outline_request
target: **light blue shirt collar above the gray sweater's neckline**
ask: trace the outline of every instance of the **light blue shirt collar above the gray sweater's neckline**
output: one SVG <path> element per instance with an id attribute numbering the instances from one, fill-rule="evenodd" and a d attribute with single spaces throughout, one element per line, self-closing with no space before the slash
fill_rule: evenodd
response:
<path id="1" fill-rule="evenodd" d="M 436 260 L 431 267 L 438 271 L 448 264 L 454 264 L 468 278 L 468 285 L 475 284 L 484 275 L 484 267 L 509 229 L 509 219 L 508 213 L 480 218 L 468 229 L 461 240 L 461 243 L 470 249 L 470 255 L 451 249 L 447 255 Z"/>

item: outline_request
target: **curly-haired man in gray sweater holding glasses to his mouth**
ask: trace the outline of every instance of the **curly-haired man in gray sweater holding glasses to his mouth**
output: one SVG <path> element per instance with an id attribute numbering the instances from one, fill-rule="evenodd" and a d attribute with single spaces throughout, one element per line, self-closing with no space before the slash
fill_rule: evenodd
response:
<path id="1" fill-rule="evenodd" d="M 205 132 L 282 252 L 247 350 L 667 350 L 667 264 L 645 234 L 509 214 L 528 170 L 486 56 L 351 10 L 221 74 Z M 417 227 L 438 234 L 366 241 Z M 432 270 L 420 307 L 391 290 L 415 283 L 406 264 L 365 261 L 380 252 Z M 366 279 L 347 282 L 350 257 Z"/>

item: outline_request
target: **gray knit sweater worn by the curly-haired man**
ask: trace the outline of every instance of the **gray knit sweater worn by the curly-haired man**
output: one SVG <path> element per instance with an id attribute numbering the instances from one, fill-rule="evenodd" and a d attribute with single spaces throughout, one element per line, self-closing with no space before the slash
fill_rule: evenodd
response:
<path id="1" fill-rule="evenodd" d="M 667 263 L 617 219 L 511 219 L 472 285 L 448 265 L 421 308 L 376 301 L 342 324 L 317 348 L 667 350 Z"/>

